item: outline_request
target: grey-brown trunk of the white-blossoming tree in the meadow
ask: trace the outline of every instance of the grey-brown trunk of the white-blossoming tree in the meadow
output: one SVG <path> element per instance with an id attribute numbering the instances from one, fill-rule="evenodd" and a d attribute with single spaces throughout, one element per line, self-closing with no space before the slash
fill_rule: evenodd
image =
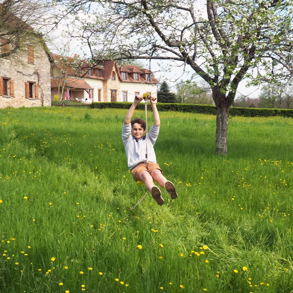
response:
<path id="1" fill-rule="evenodd" d="M 226 97 L 217 87 L 212 88 L 212 93 L 217 111 L 216 154 L 227 154 L 228 117 L 233 99 Z"/>

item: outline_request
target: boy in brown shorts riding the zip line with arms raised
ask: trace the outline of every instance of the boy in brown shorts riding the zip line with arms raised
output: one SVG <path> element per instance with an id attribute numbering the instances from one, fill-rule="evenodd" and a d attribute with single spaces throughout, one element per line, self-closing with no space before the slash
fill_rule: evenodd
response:
<path id="1" fill-rule="evenodd" d="M 122 127 L 122 142 L 125 147 L 127 163 L 129 169 L 132 171 L 133 179 L 135 181 L 143 181 L 147 190 L 151 193 L 158 205 L 163 205 L 164 200 L 161 196 L 160 189 L 154 185 L 155 180 L 159 185 L 166 189 L 172 199 L 177 197 L 175 185 L 168 181 L 156 162 L 156 155 L 154 151 L 154 144 L 159 134 L 160 117 L 156 106 L 156 98 L 151 97 L 151 108 L 154 115 L 154 124 L 148 132 L 148 168 L 146 167 L 146 137 L 143 134 L 146 130 L 146 122 L 142 119 L 136 118 L 131 120 L 136 106 L 142 101 L 143 96 L 136 96 L 134 102 L 128 110 L 124 125 Z M 132 136 L 131 136 L 132 134 Z"/>

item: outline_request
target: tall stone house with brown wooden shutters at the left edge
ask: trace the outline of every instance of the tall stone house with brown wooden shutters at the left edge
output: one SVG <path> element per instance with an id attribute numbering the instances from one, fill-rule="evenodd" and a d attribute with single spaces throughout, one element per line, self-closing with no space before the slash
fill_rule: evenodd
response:
<path id="1" fill-rule="evenodd" d="M 16 17 L 12 21 L 21 22 Z M 44 40 L 28 30 L 27 45 L 22 40 L 19 50 L 13 50 L 7 35 L 0 38 L 0 108 L 51 106 L 50 56 Z"/>

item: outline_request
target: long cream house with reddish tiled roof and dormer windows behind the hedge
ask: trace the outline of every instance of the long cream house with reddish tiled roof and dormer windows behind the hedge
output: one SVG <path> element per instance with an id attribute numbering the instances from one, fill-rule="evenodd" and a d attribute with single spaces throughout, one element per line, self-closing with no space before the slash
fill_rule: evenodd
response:
<path id="1" fill-rule="evenodd" d="M 74 66 L 64 66 L 62 62 L 64 58 L 61 55 L 51 54 L 51 57 L 52 101 L 54 96 L 60 96 L 62 93 L 63 100 L 70 98 L 86 103 L 133 102 L 135 95 L 157 92 L 159 82 L 149 69 L 142 69 L 136 65 L 118 67 L 116 61 L 106 61 L 103 65 L 94 68 L 89 68 L 84 62 L 79 68 L 74 69 Z M 76 54 L 74 58 L 77 57 Z M 74 58 L 67 57 L 65 63 L 67 64 L 67 61 L 74 63 Z M 60 76 L 60 72 L 63 72 L 63 75 Z M 63 92 L 60 90 L 62 87 L 60 84 L 64 84 Z"/>

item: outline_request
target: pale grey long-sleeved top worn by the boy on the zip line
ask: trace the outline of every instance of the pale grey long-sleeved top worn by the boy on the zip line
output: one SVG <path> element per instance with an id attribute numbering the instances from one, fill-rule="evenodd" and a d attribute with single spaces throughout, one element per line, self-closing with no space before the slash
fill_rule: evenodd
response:
<path id="1" fill-rule="evenodd" d="M 151 126 L 147 139 L 148 161 L 156 163 L 156 155 L 154 144 L 159 134 L 160 126 Z M 123 124 L 122 127 L 122 142 L 125 147 L 127 164 L 130 170 L 133 170 L 137 165 L 146 161 L 146 137 L 137 139 L 131 135 L 131 124 Z"/>

